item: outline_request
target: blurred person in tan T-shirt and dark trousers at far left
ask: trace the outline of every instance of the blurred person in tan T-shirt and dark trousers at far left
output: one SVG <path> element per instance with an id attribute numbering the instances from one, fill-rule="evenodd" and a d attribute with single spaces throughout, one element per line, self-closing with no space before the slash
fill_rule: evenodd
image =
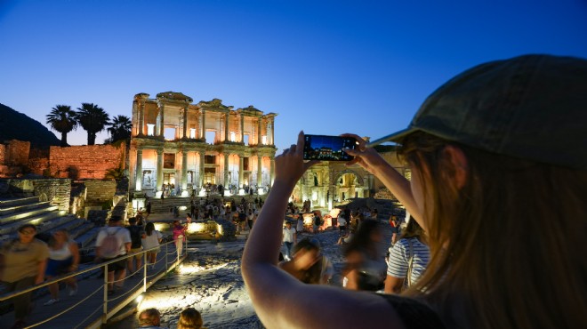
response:
<path id="1" fill-rule="evenodd" d="M 5 243 L 0 248 L 0 281 L 4 284 L 6 293 L 18 292 L 43 283 L 44 270 L 47 266 L 47 257 L 49 257 L 47 245 L 35 238 L 35 225 L 21 225 L 18 232 L 17 239 Z M 12 328 L 26 326 L 26 317 L 33 308 L 30 302 L 31 293 L 22 293 L 12 299 L 14 303 Z M 7 324 L 4 323 L 4 325 Z"/>

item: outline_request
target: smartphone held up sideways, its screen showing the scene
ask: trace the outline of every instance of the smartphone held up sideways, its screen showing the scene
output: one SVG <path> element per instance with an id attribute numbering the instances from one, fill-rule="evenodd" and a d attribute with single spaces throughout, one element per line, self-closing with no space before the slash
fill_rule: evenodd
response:
<path id="1" fill-rule="evenodd" d="M 342 148 L 355 149 L 358 146 L 353 137 L 305 135 L 304 138 L 304 160 L 350 161 L 354 156 L 348 155 Z"/>

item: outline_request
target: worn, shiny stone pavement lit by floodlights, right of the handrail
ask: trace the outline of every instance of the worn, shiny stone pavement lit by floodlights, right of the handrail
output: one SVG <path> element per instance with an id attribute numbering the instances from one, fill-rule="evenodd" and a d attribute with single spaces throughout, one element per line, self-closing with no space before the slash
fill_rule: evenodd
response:
<path id="1" fill-rule="evenodd" d="M 389 247 L 390 226 L 382 221 L 384 243 L 382 254 Z M 200 311 L 204 325 L 215 328 L 263 328 L 240 275 L 240 259 L 245 247 L 245 235 L 235 242 L 218 244 L 191 244 L 189 256 L 176 273 L 162 278 L 149 288 L 140 309 L 157 308 L 162 314 L 162 326 L 175 328 L 181 310 L 193 307 Z M 328 229 L 315 237 L 323 246 L 323 253 L 333 262 L 334 277 L 331 285 L 342 286 L 343 266 L 341 245 L 336 245 L 338 229 Z M 109 325 L 109 328 L 136 328 L 137 314 Z"/>

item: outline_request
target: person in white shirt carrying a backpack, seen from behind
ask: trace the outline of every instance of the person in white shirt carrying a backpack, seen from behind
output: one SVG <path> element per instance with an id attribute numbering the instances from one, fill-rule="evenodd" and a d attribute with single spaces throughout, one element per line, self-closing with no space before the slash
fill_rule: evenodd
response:
<path id="1" fill-rule="evenodd" d="M 131 251 L 131 234 L 122 227 L 120 216 L 110 217 L 108 225 L 100 229 L 96 237 L 96 261 L 119 259 L 108 265 L 108 294 L 113 295 L 122 290 L 125 284 L 126 260 L 122 257 Z"/>

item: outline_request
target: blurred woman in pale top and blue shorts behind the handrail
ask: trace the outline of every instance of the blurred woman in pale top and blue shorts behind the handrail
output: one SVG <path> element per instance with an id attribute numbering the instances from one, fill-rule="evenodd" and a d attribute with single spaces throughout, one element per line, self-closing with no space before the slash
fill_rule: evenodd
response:
<path id="1" fill-rule="evenodd" d="M 69 238 L 67 229 L 56 230 L 49 240 L 49 261 L 45 276 L 47 280 L 58 277 L 62 274 L 75 272 L 79 267 L 79 250 L 74 239 Z M 69 296 L 77 293 L 76 277 L 68 277 L 64 280 L 69 286 Z M 43 305 L 52 305 L 59 301 L 59 283 L 49 285 L 51 299 Z"/>

